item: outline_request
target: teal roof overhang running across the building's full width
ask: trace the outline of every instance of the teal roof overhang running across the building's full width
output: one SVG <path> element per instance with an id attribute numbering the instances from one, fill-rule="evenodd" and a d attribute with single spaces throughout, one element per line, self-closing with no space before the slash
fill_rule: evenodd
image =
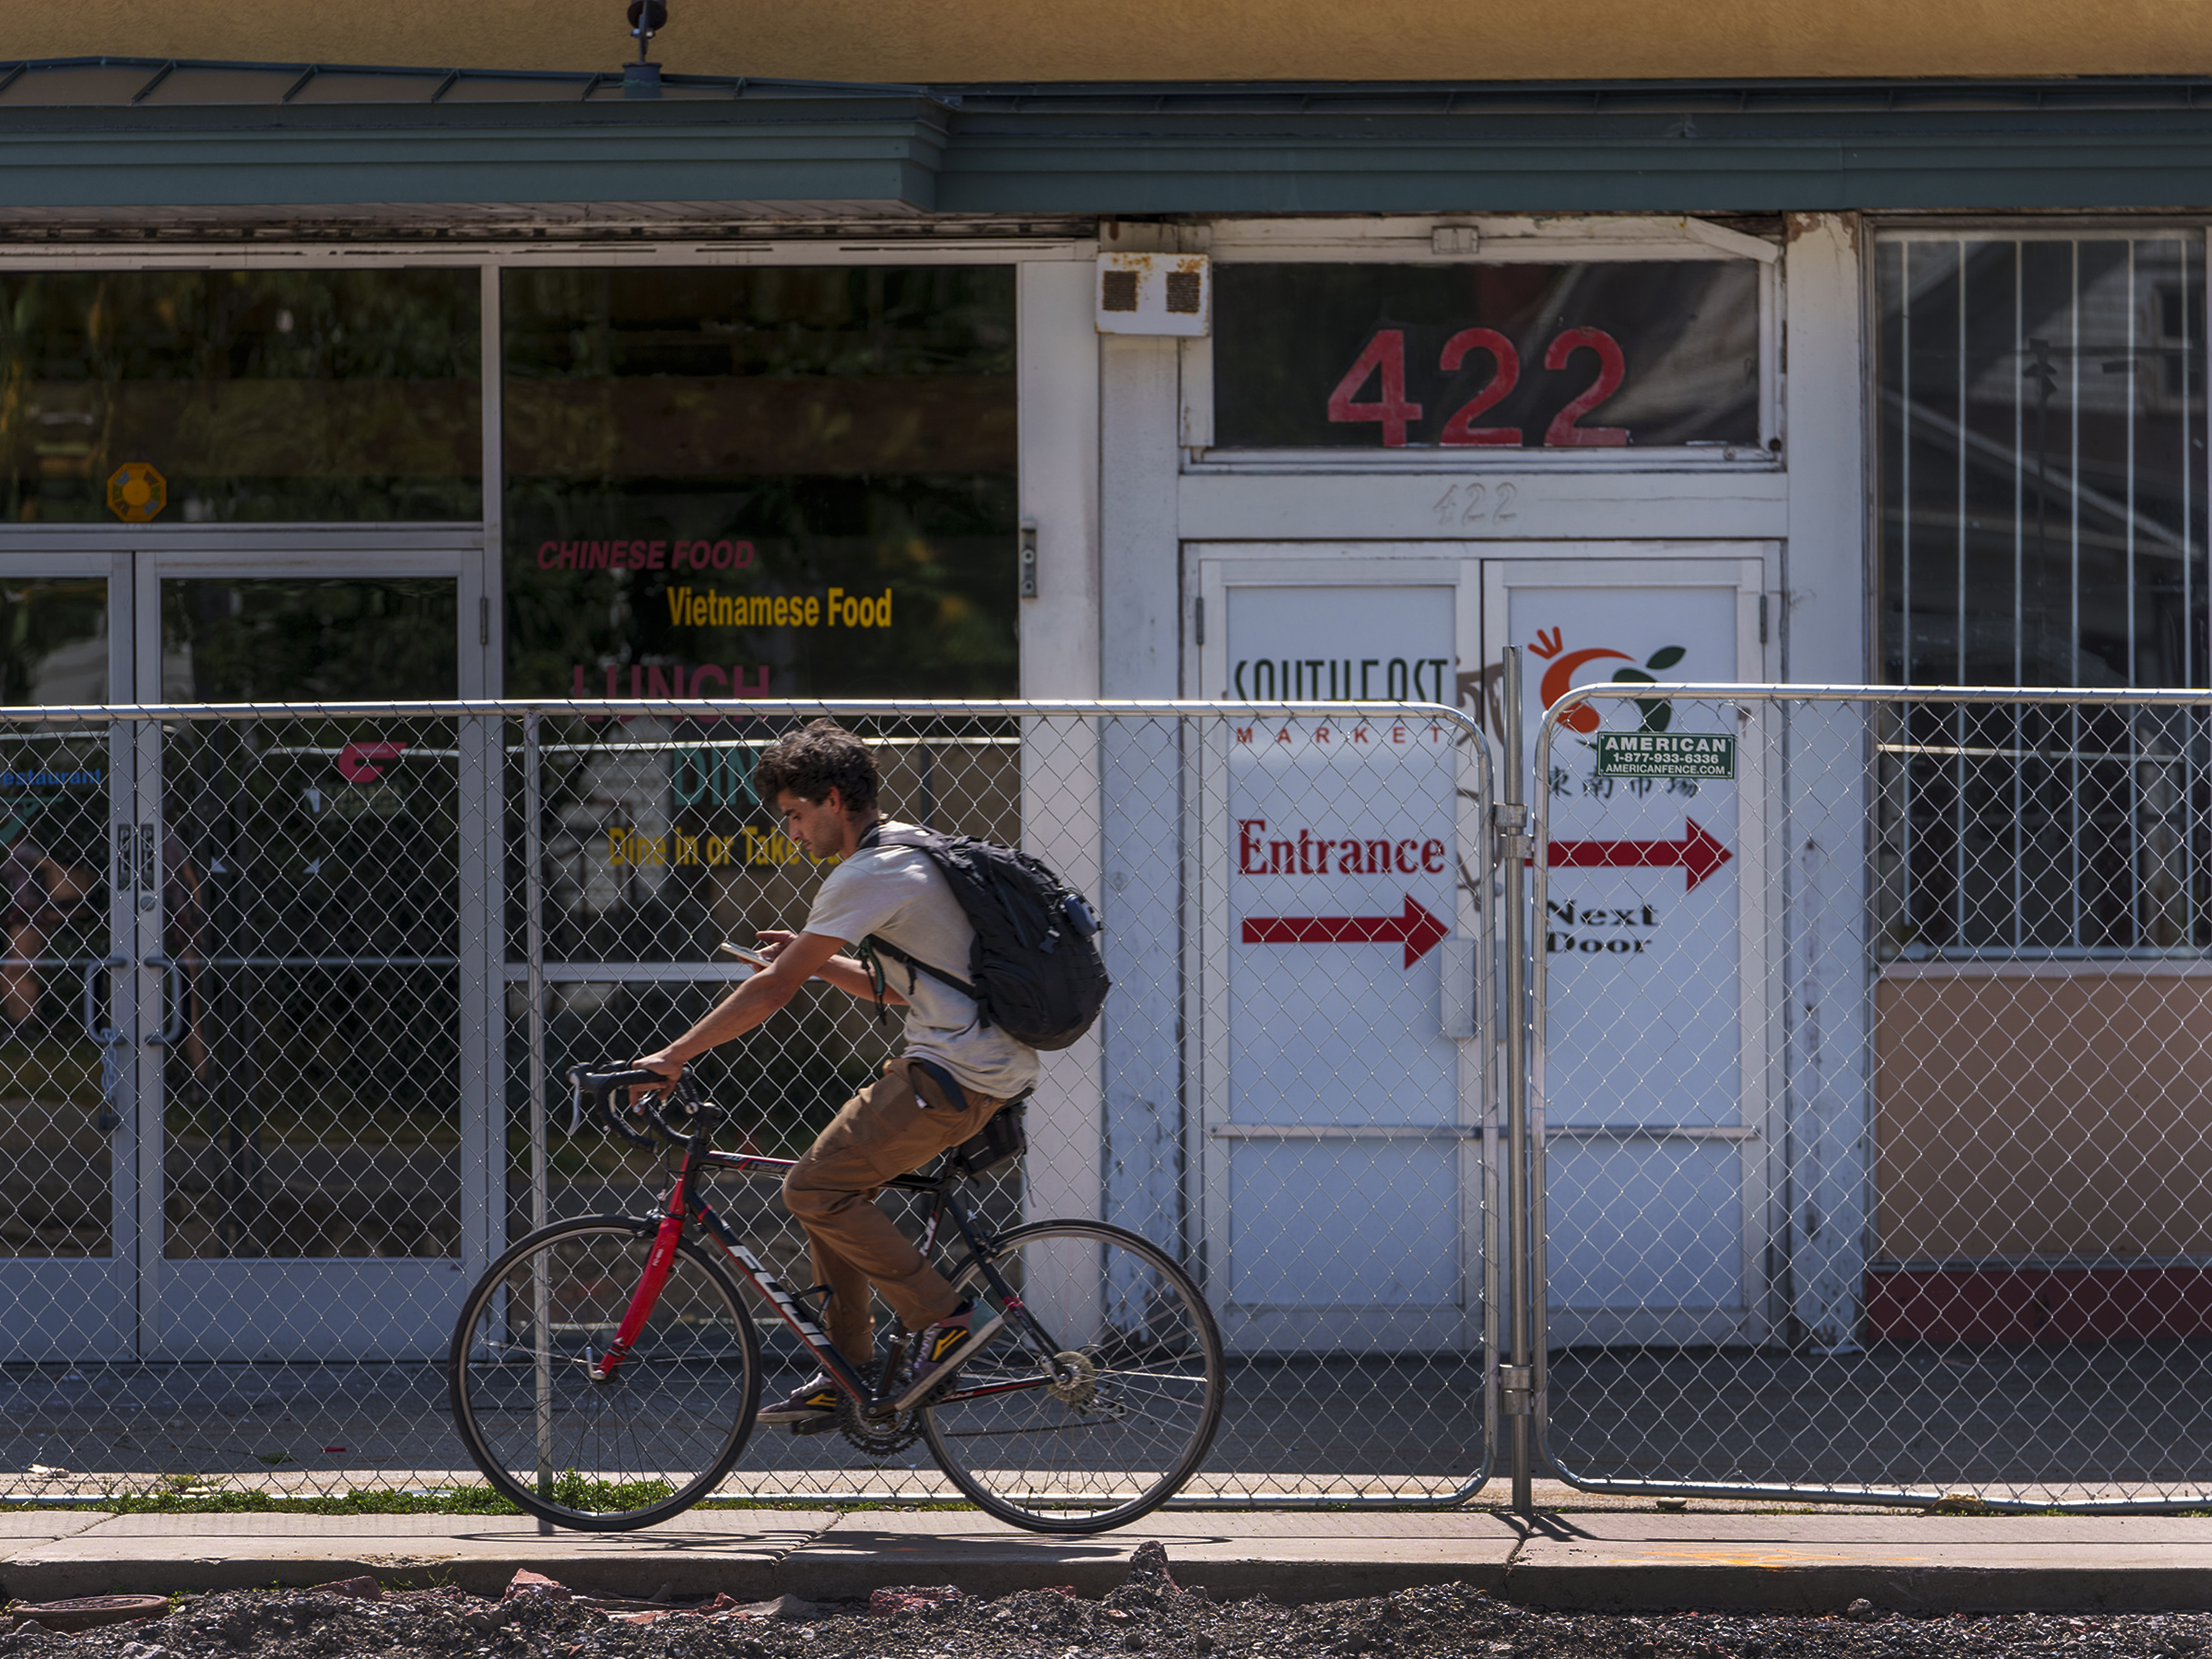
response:
<path id="1" fill-rule="evenodd" d="M 626 97 L 613 75 L 0 64 L 0 219 L 46 228 L 2205 206 L 2205 80 L 670 77 L 657 97 Z"/>

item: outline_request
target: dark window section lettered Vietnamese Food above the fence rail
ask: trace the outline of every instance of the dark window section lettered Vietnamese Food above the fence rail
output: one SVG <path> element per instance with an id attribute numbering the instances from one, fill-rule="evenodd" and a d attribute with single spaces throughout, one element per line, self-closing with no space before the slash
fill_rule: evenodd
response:
<path id="1" fill-rule="evenodd" d="M 1013 270 L 531 270 L 507 688 L 1009 697 Z"/>

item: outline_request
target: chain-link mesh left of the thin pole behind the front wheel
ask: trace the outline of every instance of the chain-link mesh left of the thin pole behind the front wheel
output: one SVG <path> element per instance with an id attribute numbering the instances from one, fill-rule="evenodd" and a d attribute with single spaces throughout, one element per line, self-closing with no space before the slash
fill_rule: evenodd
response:
<path id="1" fill-rule="evenodd" d="M 500 719 L 0 717 L 0 1486 L 445 1471 L 489 1261 Z"/>

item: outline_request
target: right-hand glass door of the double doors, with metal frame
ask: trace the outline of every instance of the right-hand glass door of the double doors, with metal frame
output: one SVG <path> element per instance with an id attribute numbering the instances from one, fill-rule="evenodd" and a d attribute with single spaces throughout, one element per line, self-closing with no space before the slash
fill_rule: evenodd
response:
<path id="1" fill-rule="evenodd" d="M 456 697 L 467 582 L 451 555 L 157 557 L 139 571 L 139 672 L 173 703 Z M 487 933 L 491 845 L 469 726 L 332 710 L 148 734 L 170 1018 L 139 1091 L 161 1126 L 148 1336 L 164 1356 L 445 1343 L 484 1234 L 491 1093 L 465 1064 L 482 1053 L 465 938 Z"/>

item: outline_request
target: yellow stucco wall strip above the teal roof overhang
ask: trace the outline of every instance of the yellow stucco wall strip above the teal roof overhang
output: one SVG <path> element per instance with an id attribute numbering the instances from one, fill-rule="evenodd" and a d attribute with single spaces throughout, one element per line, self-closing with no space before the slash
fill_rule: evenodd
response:
<path id="1" fill-rule="evenodd" d="M 2212 71 L 2203 0 L 672 0 L 670 71 L 1586 80 Z M 608 69 L 619 0 L 0 0 L 0 55 Z"/>

